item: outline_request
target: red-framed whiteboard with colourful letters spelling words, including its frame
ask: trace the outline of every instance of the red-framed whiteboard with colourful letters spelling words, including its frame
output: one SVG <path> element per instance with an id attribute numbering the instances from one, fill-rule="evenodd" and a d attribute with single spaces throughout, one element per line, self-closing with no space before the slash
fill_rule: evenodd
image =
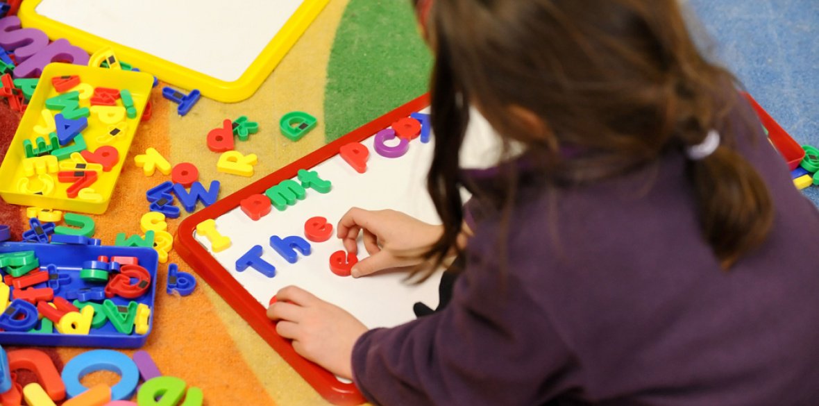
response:
<path id="1" fill-rule="evenodd" d="M 346 309 L 370 328 L 391 327 L 415 318 L 412 310 L 415 302 L 423 302 L 433 309 L 437 307 L 440 273 L 420 285 L 407 283 L 405 273 L 397 271 L 357 279 L 339 277 L 329 268 L 329 256 L 343 250 L 342 242 L 334 237 L 334 233 L 328 241 L 310 242 L 310 255 L 299 255 L 296 264 L 289 264 L 278 255 L 269 245 L 269 238 L 274 235 L 282 238 L 305 237 L 305 221 L 314 216 L 322 216 L 335 226 L 342 214 L 353 206 L 370 210 L 399 210 L 428 223 L 440 223 L 426 190 L 434 140 L 423 143 L 419 138 L 414 138 L 409 142 L 409 151 L 399 158 L 380 156 L 373 148 L 374 134 L 414 112 L 426 111 L 427 106 L 427 96 L 408 102 L 205 210 L 192 214 L 179 226 L 174 244 L 179 255 L 319 394 L 333 404 L 361 404 L 364 398 L 354 384 L 341 381 L 324 368 L 301 358 L 287 340 L 276 334 L 274 323 L 265 315 L 275 292 L 288 285 L 300 286 Z M 491 128 L 481 117 L 474 122 L 477 125 L 470 125 L 471 136 L 468 136 L 474 141 L 464 148 L 462 160 L 478 163 L 491 161 L 490 156 L 497 151 L 491 141 L 494 139 Z M 391 146 L 396 141 L 388 144 Z M 369 149 L 368 169 L 364 174 L 356 172 L 338 155 L 339 148 L 351 142 L 361 142 Z M 295 179 L 299 169 L 318 172 L 321 178 L 333 183 L 332 190 L 325 194 L 308 188 L 304 200 L 296 201 L 295 205 L 287 206 L 283 211 L 273 209 L 258 221 L 242 212 L 242 200 L 264 194 L 269 187 L 283 180 Z M 210 241 L 204 236 L 197 236 L 197 224 L 207 219 L 214 219 L 217 231 L 231 239 L 228 249 L 214 253 L 210 250 Z M 266 277 L 252 268 L 237 271 L 237 259 L 253 246 L 263 247 L 262 258 L 276 267 L 274 277 Z M 359 255 L 365 255 L 365 252 L 360 242 Z"/>

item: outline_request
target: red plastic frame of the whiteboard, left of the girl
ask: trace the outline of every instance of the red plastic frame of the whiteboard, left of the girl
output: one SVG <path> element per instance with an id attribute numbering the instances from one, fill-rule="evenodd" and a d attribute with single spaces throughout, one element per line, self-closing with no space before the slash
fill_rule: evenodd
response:
<path id="1" fill-rule="evenodd" d="M 354 384 L 339 382 L 332 373 L 315 363 L 311 363 L 296 354 L 289 341 L 278 336 L 274 323 L 271 323 L 265 314 L 265 307 L 259 304 L 253 296 L 248 293 L 242 285 L 230 276 L 230 273 L 219 264 L 210 253 L 199 244 L 193 237 L 193 232 L 197 224 L 207 219 L 216 219 L 222 214 L 241 205 L 241 201 L 248 196 L 264 193 L 269 187 L 285 180 L 296 177 L 299 169 L 310 169 L 336 156 L 338 149 L 350 142 L 360 142 L 373 136 L 382 129 L 386 129 L 396 120 L 408 117 L 410 114 L 423 110 L 429 106 L 428 95 L 423 95 L 406 103 L 404 106 L 382 115 L 376 120 L 355 131 L 330 142 L 319 150 L 311 152 L 307 156 L 296 160 L 290 165 L 278 169 L 273 174 L 265 176 L 242 190 L 216 201 L 204 210 L 192 214 L 179 224 L 177 237 L 174 239 L 174 249 L 179 256 L 191 266 L 201 277 L 205 279 L 213 289 L 221 295 L 238 314 L 242 315 L 247 323 L 256 330 L 257 333 L 267 343 L 287 361 L 310 386 L 319 392 L 324 399 L 333 404 L 342 406 L 363 404 L 366 400 Z"/>

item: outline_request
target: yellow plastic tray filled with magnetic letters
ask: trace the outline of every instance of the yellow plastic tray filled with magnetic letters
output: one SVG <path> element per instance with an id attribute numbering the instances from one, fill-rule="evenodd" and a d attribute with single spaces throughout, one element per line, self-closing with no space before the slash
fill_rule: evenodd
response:
<path id="1" fill-rule="evenodd" d="M 46 109 L 45 102 L 47 99 L 60 94 L 53 88 L 52 78 L 65 75 L 79 75 L 81 83 L 88 83 L 92 88 L 128 89 L 133 97 L 134 107 L 137 109 L 136 118 L 129 119 L 126 116 L 124 120 L 120 122 L 120 124 L 124 123 L 124 126 L 121 127 L 123 133 L 113 138 L 112 142 L 107 142 L 105 138 L 103 138 L 103 142 L 100 142 L 97 138 L 106 135 L 110 126 L 115 124 L 102 123 L 99 117 L 93 113 L 88 117 L 88 127 L 81 133 L 88 146 L 88 151 L 93 152 L 97 147 L 101 147 L 102 145 L 111 145 L 111 147 L 115 147 L 117 151 L 119 151 L 120 159 L 116 165 L 108 172 L 98 172 L 97 182 L 90 186 L 94 192 L 102 195 L 102 201 L 86 201 L 80 199 L 79 196 L 73 199 L 68 197 L 66 189 L 71 186 L 71 183 L 60 183 L 57 178 L 57 173 L 48 173 L 48 176 L 51 176 L 54 182 L 53 191 L 48 194 L 48 196 L 20 192 L 18 186 L 22 178 L 29 178 L 29 192 L 36 192 L 43 184 L 43 181 L 38 178 L 38 175 L 32 177 L 25 176 L 23 164 L 26 158 L 23 141 L 29 139 L 31 142 L 35 142 L 39 134 L 35 132 L 34 127 L 44 127 L 46 125 L 46 121 L 43 118 L 43 111 L 48 111 L 48 114 L 52 116 L 59 113 L 59 111 L 49 111 Z M 90 214 L 105 213 L 105 210 L 108 209 L 108 204 L 111 202 L 111 193 L 114 191 L 116 179 L 119 178 L 122 165 L 128 156 L 128 149 L 131 145 L 131 141 L 133 141 L 133 134 L 137 131 L 139 120 L 142 118 L 145 105 L 151 96 L 152 84 L 152 76 L 142 72 L 109 70 L 62 63 L 46 65 L 43 70 L 43 75 L 38 82 L 37 89 L 34 91 L 34 95 L 29 101 L 29 106 L 25 110 L 23 119 L 20 120 L 20 126 L 17 128 L 14 139 L 11 140 L 6 158 L 2 161 L 2 165 L 0 165 L 0 179 L 2 179 L 2 182 L 0 182 L 0 196 L 2 196 L 2 199 L 12 205 L 31 205 Z M 76 88 L 73 88 L 69 91 L 75 89 Z M 123 106 L 121 99 L 117 100 L 116 103 L 117 106 Z M 83 100 L 83 96 L 80 96 L 79 106 L 89 107 L 89 99 Z M 48 139 L 48 134 L 45 134 L 43 138 Z M 107 143 L 105 144 L 104 142 Z M 70 161 L 71 159 L 69 158 L 60 160 L 59 162 Z"/>

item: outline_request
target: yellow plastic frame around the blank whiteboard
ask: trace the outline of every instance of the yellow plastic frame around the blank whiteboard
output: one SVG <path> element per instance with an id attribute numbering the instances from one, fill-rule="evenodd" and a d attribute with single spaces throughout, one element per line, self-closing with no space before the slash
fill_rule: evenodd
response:
<path id="1" fill-rule="evenodd" d="M 251 97 L 259 89 L 261 83 L 267 79 L 270 72 L 273 72 L 278 63 L 287 55 L 290 48 L 301 38 L 301 34 L 304 34 L 307 27 L 330 2 L 330 0 L 303 0 L 301 6 L 296 9 L 296 12 L 270 40 L 259 56 L 256 56 L 256 60 L 242 76 L 233 82 L 227 82 L 42 16 L 36 11 L 41 1 L 26 0 L 20 5 L 17 16 L 20 17 L 24 27 L 42 29 L 52 39 L 67 38 L 70 43 L 83 48 L 90 54 L 102 47 L 113 47 L 120 61 L 137 66 L 140 70 L 154 74 L 162 81 L 172 83 L 179 88 L 199 89 L 203 96 L 219 102 L 241 102 Z"/>

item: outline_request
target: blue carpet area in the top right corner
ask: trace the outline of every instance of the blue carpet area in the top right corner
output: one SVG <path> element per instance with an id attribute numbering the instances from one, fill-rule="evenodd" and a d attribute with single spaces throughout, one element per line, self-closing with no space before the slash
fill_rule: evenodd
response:
<path id="1" fill-rule="evenodd" d="M 688 3 L 713 56 L 796 142 L 819 147 L 819 0 Z M 804 192 L 819 205 L 819 186 Z"/>

